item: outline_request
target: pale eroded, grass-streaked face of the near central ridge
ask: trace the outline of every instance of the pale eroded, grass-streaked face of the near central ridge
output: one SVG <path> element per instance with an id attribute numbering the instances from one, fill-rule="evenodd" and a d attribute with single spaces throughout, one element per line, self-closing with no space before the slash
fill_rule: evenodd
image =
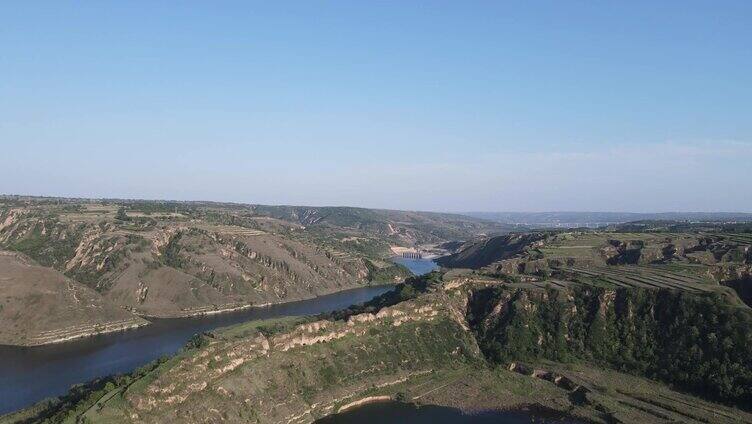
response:
<path id="1" fill-rule="evenodd" d="M 218 334 L 146 386 L 129 389 L 125 407 L 112 413 L 133 422 L 310 422 L 373 388 L 481 360 L 454 308 L 435 293 L 280 333 Z"/>

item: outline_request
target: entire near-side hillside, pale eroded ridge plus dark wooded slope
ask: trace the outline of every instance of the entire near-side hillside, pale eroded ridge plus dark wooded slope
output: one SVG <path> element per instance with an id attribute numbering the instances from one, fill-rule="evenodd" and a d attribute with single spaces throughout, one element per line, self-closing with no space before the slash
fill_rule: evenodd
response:
<path id="1" fill-rule="evenodd" d="M 712 401 L 749 406 L 749 325 L 748 309 L 720 297 L 434 274 L 339 313 L 197 337 L 173 358 L 0 422 L 310 423 L 382 398 L 597 423 L 752 422 Z"/>

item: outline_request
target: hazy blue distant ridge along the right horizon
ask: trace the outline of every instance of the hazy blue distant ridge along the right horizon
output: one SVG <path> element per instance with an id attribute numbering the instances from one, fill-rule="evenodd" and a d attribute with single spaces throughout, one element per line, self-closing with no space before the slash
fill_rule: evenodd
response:
<path id="1" fill-rule="evenodd" d="M 752 221 L 752 213 L 747 212 L 463 212 L 463 215 L 502 224 L 544 227 L 598 227 L 633 221 Z"/>

